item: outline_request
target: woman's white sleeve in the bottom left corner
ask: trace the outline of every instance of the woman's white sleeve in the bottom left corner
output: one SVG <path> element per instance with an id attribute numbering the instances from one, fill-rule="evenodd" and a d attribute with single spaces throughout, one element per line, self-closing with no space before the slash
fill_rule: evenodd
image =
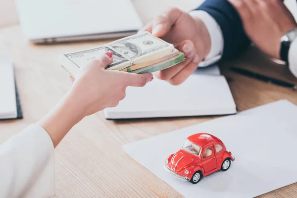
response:
<path id="1" fill-rule="evenodd" d="M 30 125 L 0 145 L 0 198 L 54 196 L 54 148 L 49 134 Z"/>

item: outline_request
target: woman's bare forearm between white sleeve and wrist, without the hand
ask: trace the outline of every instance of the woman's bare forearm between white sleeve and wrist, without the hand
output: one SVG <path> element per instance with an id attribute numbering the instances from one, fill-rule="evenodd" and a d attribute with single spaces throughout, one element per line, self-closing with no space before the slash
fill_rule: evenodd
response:
<path id="1" fill-rule="evenodd" d="M 49 134 L 54 148 L 61 142 L 70 129 L 84 118 L 82 105 L 68 92 L 60 103 L 43 118 L 39 125 Z"/>

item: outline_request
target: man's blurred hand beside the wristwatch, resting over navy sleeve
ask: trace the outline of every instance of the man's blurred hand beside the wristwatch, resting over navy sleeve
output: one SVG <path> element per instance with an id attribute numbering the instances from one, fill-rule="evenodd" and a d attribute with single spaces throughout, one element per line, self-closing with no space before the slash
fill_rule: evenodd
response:
<path id="1" fill-rule="evenodd" d="M 297 28 L 281 0 L 229 0 L 241 16 L 248 37 L 262 51 L 280 59 L 281 38 Z"/>

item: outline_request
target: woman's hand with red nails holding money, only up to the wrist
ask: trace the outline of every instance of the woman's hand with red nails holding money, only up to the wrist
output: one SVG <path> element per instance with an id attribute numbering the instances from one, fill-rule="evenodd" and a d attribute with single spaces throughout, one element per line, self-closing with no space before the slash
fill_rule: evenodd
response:
<path id="1" fill-rule="evenodd" d="M 106 107 L 116 106 L 126 96 L 128 86 L 143 87 L 153 79 L 152 75 L 105 70 L 112 61 L 112 52 L 99 59 L 92 59 L 81 68 L 70 90 L 71 100 L 87 116 Z"/>

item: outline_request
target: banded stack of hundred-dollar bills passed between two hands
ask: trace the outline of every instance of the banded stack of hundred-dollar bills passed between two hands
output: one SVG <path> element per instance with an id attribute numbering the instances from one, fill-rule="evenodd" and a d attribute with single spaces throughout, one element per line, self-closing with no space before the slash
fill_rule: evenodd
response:
<path id="1" fill-rule="evenodd" d="M 75 77 L 80 67 L 106 51 L 113 52 L 113 61 L 106 69 L 139 74 L 166 69 L 185 60 L 184 54 L 172 44 L 144 32 L 96 48 L 62 54 L 58 62 Z"/>

